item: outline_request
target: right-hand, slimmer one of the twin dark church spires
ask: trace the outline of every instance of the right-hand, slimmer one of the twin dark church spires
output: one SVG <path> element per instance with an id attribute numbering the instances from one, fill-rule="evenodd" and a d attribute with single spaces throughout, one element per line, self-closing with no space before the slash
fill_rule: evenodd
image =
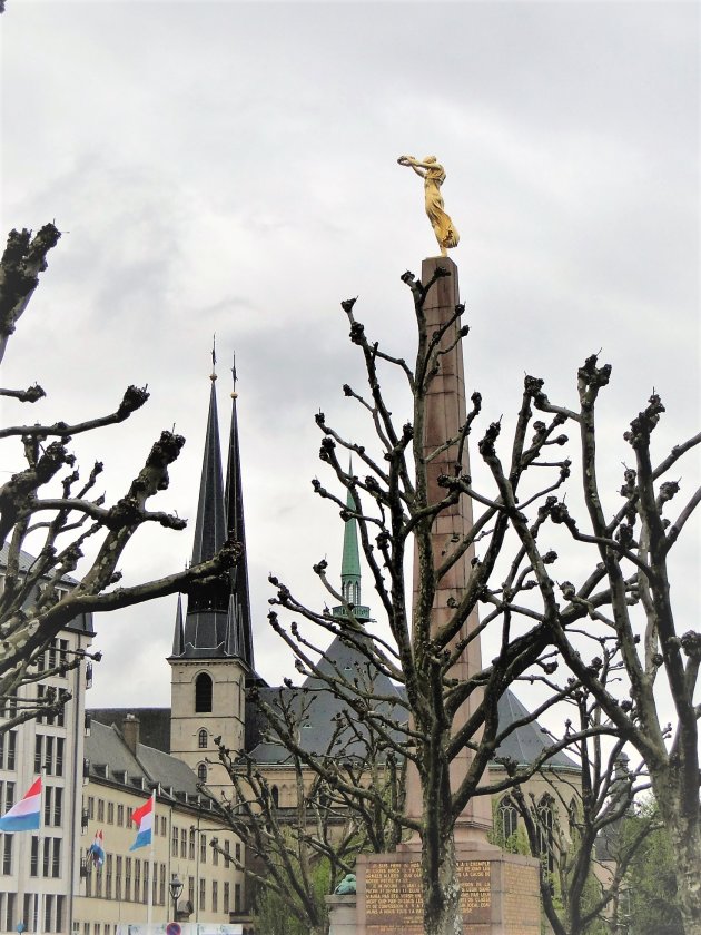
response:
<path id="1" fill-rule="evenodd" d="M 253 630 L 250 626 L 250 597 L 248 593 L 248 560 L 246 554 L 246 526 L 244 523 L 244 493 L 241 488 L 241 461 L 238 446 L 238 414 L 236 401 L 236 357 L 231 367 L 234 387 L 231 391 L 231 427 L 229 452 L 226 465 L 226 522 L 228 538 L 240 542 L 244 553 L 231 571 L 231 593 L 227 626 L 227 652 L 238 656 L 254 670 Z"/>

